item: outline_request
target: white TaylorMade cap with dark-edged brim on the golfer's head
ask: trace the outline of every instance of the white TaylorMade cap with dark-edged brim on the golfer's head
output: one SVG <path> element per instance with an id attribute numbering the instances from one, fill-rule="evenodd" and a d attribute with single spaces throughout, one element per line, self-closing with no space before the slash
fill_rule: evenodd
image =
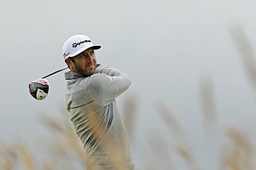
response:
<path id="1" fill-rule="evenodd" d="M 64 59 L 67 59 L 82 53 L 88 48 L 99 49 L 101 47 L 101 45 L 93 45 L 92 41 L 87 36 L 74 35 L 73 37 L 69 37 L 64 43 L 62 48 L 62 56 Z"/>

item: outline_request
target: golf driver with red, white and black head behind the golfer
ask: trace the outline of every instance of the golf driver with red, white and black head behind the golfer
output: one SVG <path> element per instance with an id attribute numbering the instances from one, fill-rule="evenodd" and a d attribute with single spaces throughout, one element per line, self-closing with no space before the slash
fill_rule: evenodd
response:
<path id="1" fill-rule="evenodd" d="M 50 77 L 58 72 L 66 70 L 68 67 L 62 68 L 58 71 L 49 73 L 48 75 L 38 78 L 35 81 L 32 81 L 28 84 L 29 93 L 34 99 L 42 100 L 45 99 L 49 92 L 49 82 L 46 80 L 46 77 Z"/>

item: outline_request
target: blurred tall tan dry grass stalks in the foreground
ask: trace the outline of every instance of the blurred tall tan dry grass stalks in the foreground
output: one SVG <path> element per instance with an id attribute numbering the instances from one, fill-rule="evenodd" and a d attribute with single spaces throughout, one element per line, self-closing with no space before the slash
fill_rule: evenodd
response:
<path id="1" fill-rule="evenodd" d="M 238 51 L 241 54 L 242 65 L 245 68 L 247 78 L 252 83 L 253 90 L 256 92 L 256 63 L 253 48 L 247 40 L 246 34 L 241 27 L 236 26 L 230 30 Z M 219 167 L 223 170 L 253 170 L 255 166 L 255 148 L 246 134 L 236 127 L 223 128 L 218 122 L 218 106 L 214 96 L 214 87 L 212 80 L 203 78 L 201 80 L 201 108 L 203 112 L 203 123 L 209 135 L 213 135 L 212 130 L 219 129 L 218 133 L 224 134 L 224 141 L 221 141 L 221 153 L 218 156 Z M 125 100 L 124 120 L 129 136 L 132 141 L 136 137 L 134 127 L 137 120 L 137 101 L 136 97 Z M 176 169 L 175 160 L 170 153 L 179 156 L 186 169 L 201 169 L 200 162 L 197 162 L 192 144 L 189 143 L 189 135 L 183 125 L 177 120 L 168 106 L 160 102 L 154 107 L 157 116 L 166 124 L 169 131 L 175 135 L 175 139 L 167 139 L 160 136 L 160 133 L 146 134 L 150 150 L 143 151 L 143 166 L 137 169 Z M 38 158 L 26 142 L 22 140 L 13 143 L 0 143 L 0 169 L 1 170 L 65 170 L 65 169 L 86 169 L 86 157 L 84 149 L 78 137 L 74 133 L 73 125 L 67 116 L 52 117 L 42 115 L 40 117 L 44 127 L 47 127 L 48 139 L 39 143 L 39 148 L 45 151 L 45 157 Z M 95 123 L 97 117 L 93 117 L 91 123 Z M 102 127 L 99 127 L 102 128 Z M 102 129 L 103 130 L 103 129 Z M 101 130 L 100 130 L 101 131 Z M 96 134 L 101 138 L 101 133 Z M 113 147 L 116 150 L 117 145 L 111 145 L 108 138 L 103 141 L 107 147 Z M 117 164 L 122 164 L 122 152 L 111 153 Z M 92 162 L 95 163 L 95 162 Z M 89 165 L 90 166 L 90 165 Z M 119 170 L 124 170 L 119 167 Z"/>

